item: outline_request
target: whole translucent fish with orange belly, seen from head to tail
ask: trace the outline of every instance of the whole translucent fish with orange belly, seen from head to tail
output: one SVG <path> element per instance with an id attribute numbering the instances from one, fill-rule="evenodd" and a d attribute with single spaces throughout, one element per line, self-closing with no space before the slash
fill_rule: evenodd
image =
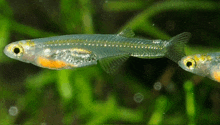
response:
<path id="1" fill-rule="evenodd" d="M 4 48 L 6 56 L 36 66 L 62 70 L 100 64 L 107 73 L 115 72 L 130 56 L 167 57 L 175 62 L 185 55 L 189 32 L 170 40 L 135 38 L 131 29 L 118 34 L 74 34 L 20 40 Z"/>

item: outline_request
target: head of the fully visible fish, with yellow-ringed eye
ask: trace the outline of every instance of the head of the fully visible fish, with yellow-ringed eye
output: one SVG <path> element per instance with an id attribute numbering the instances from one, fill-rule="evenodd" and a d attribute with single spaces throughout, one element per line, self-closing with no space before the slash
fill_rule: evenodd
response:
<path id="1" fill-rule="evenodd" d="M 6 45 L 4 53 L 12 59 L 29 63 L 35 57 L 35 43 L 31 40 L 13 42 Z"/>

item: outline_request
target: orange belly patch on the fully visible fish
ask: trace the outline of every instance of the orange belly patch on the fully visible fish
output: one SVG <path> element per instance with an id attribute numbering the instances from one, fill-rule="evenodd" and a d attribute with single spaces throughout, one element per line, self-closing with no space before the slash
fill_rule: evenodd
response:
<path id="1" fill-rule="evenodd" d="M 60 60 L 49 60 L 44 57 L 38 57 L 37 59 L 38 65 L 45 67 L 45 68 L 50 68 L 50 69 L 60 69 L 60 68 L 65 68 L 69 67 L 71 65 L 67 64 L 64 61 Z"/>

